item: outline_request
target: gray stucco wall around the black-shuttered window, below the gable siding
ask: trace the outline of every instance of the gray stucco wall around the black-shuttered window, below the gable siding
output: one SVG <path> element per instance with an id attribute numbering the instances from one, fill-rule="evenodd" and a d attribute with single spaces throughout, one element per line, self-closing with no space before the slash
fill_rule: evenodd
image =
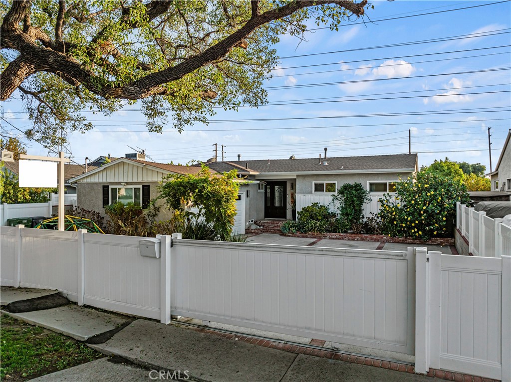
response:
<path id="1" fill-rule="evenodd" d="M 156 198 L 156 186 L 158 182 L 128 182 L 129 185 L 141 185 L 141 184 L 149 184 L 149 195 L 150 198 Z M 98 211 L 101 213 L 101 216 L 106 217 L 105 208 L 103 207 L 103 186 L 104 185 L 112 185 L 112 186 L 120 186 L 119 182 L 112 183 L 78 183 L 78 192 L 77 192 L 77 205 L 78 207 L 82 207 L 85 209 L 91 209 Z M 164 207 L 163 201 L 158 201 L 156 205 L 161 205 L 160 213 L 156 217 L 156 220 L 168 220 L 172 217 L 171 212 Z"/>

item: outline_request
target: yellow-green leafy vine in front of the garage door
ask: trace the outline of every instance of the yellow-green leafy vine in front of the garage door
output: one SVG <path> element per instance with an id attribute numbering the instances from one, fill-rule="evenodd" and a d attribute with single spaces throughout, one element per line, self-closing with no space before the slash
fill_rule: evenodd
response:
<path id="1" fill-rule="evenodd" d="M 166 200 L 174 211 L 188 214 L 195 220 L 203 218 L 213 225 L 219 240 L 229 241 L 240 186 L 236 177 L 235 170 L 217 175 L 204 165 L 197 175 L 169 174 L 158 186 L 159 198 Z M 190 208 L 198 208 L 198 212 Z"/>

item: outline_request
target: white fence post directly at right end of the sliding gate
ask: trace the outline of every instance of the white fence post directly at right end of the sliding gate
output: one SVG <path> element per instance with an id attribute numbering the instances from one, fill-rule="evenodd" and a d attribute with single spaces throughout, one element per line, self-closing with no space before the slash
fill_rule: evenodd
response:
<path id="1" fill-rule="evenodd" d="M 428 366 L 428 279 L 426 248 L 415 252 L 415 373 L 426 374 Z"/>

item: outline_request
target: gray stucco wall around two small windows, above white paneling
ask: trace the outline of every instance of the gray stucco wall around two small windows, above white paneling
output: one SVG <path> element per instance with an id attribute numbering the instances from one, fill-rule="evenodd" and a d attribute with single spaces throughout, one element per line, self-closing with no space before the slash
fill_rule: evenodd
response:
<path id="1" fill-rule="evenodd" d="M 367 189 L 367 182 L 371 181 L 393 181 L 406 179 L 412 173 L 375 173 L 375 174 L 320 174 L 320 175 L 297 175 L 296 176 L 296 193 L 297 194 L 313 194 L 313 182 L 337 182 L 337 188 L 344 183 L 361 183 Z"/>

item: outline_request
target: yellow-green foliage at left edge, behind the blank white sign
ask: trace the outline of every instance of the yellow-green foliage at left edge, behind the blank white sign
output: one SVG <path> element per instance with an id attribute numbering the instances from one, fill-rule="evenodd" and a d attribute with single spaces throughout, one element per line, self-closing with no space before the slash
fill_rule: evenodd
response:
<path id="1" fill-rule="evenodd" d="M 48 195 L 57 191 L 56 188 L 19 187 L 18 184 L 18 176 L 0 162 L 0 203 L 46 203 L 50 201 Z"/>

